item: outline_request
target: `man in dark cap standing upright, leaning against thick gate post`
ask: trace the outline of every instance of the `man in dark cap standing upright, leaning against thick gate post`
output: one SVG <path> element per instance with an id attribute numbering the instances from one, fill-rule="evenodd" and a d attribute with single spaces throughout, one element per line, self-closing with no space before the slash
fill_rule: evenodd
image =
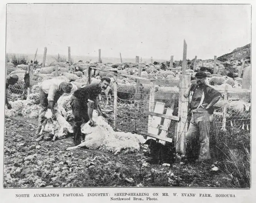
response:
<path id="1" fill-rule="evenodd" d="M 185 98 L 189 97 L 190 91 L 193 92 L 191 101 L 192 118 L 187 132 L 187 156 L 188 159 L 196 159 L 196 162 L 211 159 L 209 148 L 209 131 L 213 121 L 213 105 L 219 101 L 221 94 L 216 89 L 209 87 L 205 83 L 206 73 L 197 72 L 196 84 L 190 84 L 184 94 Z M 200 152 L 190 151 L 196 142 L 199 134 Z"/>

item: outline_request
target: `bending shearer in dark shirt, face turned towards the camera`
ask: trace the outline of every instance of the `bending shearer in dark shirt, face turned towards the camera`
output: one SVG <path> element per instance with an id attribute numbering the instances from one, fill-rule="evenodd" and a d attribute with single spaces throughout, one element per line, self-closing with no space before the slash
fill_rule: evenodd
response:
<path id="1" fill-rule="evenodd" d="M 92 120 L 92 112 L 95 109 L 101 114 L 97 97 L 101 93 L 107 89 L 110 84 L 111 79 L 109 77 L 102 77 L 100 83 L 94 83 L 87 86 L 81 86 L 77 89 L 70 100 L 70 105 L 75 117 L 74 124 L 74 144 L 79 145 L 81 143 L 81 125 L 82 119 L 85 122 L 90 121 L 90 125 L 94 125 L 94 121 Z"/>

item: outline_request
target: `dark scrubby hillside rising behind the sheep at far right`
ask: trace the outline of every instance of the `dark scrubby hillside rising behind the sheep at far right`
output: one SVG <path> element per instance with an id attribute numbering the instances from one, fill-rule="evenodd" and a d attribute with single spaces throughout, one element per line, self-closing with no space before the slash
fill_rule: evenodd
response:
<path id="1" fill-rule="evenodd" d="M 251 56 L 251 44 L 247 44 L 244 47 L 238 47 L 229 54 L 224 54 L 218 57 L 220 61 L 234 61 L 234 60 L 246 60 L 250 61 Z"/>

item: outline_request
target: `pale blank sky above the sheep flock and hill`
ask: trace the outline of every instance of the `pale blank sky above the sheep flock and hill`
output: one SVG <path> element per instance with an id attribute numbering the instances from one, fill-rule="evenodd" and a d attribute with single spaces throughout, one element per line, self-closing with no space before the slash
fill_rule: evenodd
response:
<path id="1" fill-rule="evenodd" d="M 6 53 L 210 59 L 251 41 L 251 6 L 8 4 Z"/>

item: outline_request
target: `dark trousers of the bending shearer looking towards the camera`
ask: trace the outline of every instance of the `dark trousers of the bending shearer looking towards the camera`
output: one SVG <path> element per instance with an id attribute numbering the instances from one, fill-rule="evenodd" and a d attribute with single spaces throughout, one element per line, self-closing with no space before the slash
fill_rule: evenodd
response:
<path id="1" fill-rule="evenodd" d="M 90 121 L 90 118 L 88 116 L 88 106 L 87 106 L 87 103 L 79 101 L 74 96 L 72 96 L 71 98 L 70 105 L 75 118 L 75 123 L 73 126 L 74 144 L 79 145 L 81 143 L 82 136 L 84 138 L 84 135 L 82 135 L 82 132 L 81 132 L 81 125 L 82 125 L 83 119 L 85 123 Z"/>

